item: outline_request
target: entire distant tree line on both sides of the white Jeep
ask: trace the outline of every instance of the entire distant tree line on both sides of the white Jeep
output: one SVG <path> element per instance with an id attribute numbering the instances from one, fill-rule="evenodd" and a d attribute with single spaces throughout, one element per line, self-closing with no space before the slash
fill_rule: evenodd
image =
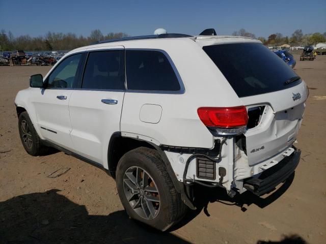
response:
<path id="1" fill-rule="evenodd" d="M 233 36 L 256 38 L 255 34 L 247 32 L 246 29 L 239 29 L 232 33 Z M 48 32 L 44 36 L 31 37 L 21 35 L 14 37 L 11 31 L 5 29 L 0 31 L 0 51 L 28 50 L 28 51 L 51 51 L 51 50 L 72 50 L 77 47 L 87 46 L 92 42 L 128 37 L 126 33 L 108 33 L 103 35 L 99 29 L 94 29 L 90 36 L 77 36 L 74 33 L 54 33 Z M 291 46 L 315 45 L 319 42 L 326 42 L 326 32 L 303 34 L 301 29 L 296 29 L 293 34 L 283 36 L 281 33 L 270 34 L 268 38 L 258 37 L 264 45 L 280 46 L 289 44 Z"/>

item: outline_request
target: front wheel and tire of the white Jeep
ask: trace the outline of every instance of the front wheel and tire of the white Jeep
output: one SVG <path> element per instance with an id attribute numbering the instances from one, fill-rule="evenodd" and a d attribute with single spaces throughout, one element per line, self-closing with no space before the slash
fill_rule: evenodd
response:
<path id="1" fill-rule="evenodd" d="M 47 153 L 48 147 L 42 144 L 33 126 L 32 120 L 26 111 L 19 115 L 18 130 L 21 143 L 28 154 L 39 156 Z"/>

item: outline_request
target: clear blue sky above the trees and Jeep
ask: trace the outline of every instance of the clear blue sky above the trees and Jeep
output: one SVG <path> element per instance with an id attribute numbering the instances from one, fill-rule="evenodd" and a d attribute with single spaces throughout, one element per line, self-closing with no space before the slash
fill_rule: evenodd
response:
<path id="1" fill-rule="evenodd" d="M 326 1 L 19 1 L 0 0 L 0 29 L 14 36 L 51 32 L 88 36 L 99 28 L 105 35 L 124 32 L 150 35 L 156 28 L 168 33 L 197 35 L 215 28 L 230 35 L 240 28 L 256 37 L 279 32 L 290 36 L 326 32 Z M 15 17 L 18 16 L 18 17 Z"/>

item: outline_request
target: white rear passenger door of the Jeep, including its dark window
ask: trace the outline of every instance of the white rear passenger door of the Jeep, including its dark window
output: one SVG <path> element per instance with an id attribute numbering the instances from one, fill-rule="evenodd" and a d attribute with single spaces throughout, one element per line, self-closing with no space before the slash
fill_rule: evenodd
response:
<path id="1" fill-rule="evenodd" d="M 120 131 L 125 92 L 124 47 L 88 49 L 84 75 L 69 101 L 75 151 L 107 167 L 108 142 Z"/>

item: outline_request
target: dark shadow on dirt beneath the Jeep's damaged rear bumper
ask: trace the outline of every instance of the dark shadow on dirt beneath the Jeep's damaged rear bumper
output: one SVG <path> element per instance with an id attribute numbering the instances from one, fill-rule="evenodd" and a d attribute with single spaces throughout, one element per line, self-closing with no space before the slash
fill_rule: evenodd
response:
<path id="1" fill-rule="evenodd" d="M 255 204 L 260 208 L 264 208 L 269 204 L 276 201 L 279 197 L 281 197 L 286 190 L 291 186 L 292 181 L 294 179 L 294 174 L 291 174 L 287 180 L 285 180 L 281 187 L 279 187 L 273 193 L 270 193 L 267 197 L 258 197 L 253 193 L 247 191 L 243 194 L 237 194 L 234 198 L 230 198 L 225 189 L 222 188 L 205 188 L 201 186 L 195 186 L 194 195 L 195 198 L 195 211 L 189 211 L 182 221 L 180 221 L 177 225 L 172 227 L 173 230 L 181 228 L 186 225 L 188 222 L 192 221 L 196 218 L 197 215 L 200 214 L 201 211 L 209 217 L 208 204 L 213 202 L 220 202 L 221 204 L 226 205 L 234 205 L 235 207 L 239 207 L 241 211 L 246 211 L 246 206 L 250 206 L 251 204 Z"/>

